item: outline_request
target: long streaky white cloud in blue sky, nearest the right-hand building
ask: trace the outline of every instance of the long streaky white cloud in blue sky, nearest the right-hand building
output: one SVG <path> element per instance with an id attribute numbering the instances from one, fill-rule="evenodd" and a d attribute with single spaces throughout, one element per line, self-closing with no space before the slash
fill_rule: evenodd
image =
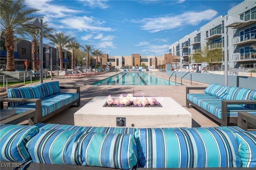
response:
<path id="1" fill-rule="evenodd" d="M 183 25 L 198 25 L 203 20 L 212 20 L 216 16 L 215 10 L 204 10 L 202 12 L 185 12 L 177 16 L 161 16 L 157 18 L 144 18 L 142 20 L 131 20 L 134 23 L 142 23 L 143 30 L 151 33 L 182 27 Z"/>

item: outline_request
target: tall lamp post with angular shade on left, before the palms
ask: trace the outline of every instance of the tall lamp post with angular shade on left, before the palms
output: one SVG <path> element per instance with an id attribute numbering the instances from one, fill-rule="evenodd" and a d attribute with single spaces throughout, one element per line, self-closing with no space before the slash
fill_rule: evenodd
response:
<path id="1" fill-rule="evenodd" d="M 34 18 L 28 20 L 22 25 L 30 28 L 39 28 L 40 29 L 40 53 L 39 53 L 39 68 L 40 68 L 40 83 L 43 83 L 43 20 L 41 18 Z"/>

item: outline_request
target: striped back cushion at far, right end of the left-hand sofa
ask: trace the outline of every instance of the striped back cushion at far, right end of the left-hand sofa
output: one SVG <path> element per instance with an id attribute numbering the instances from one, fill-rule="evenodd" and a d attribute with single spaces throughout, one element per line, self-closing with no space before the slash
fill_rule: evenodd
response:
<path id="1" fill-rule="evenodd" d="M 60 93 L 60 83 L 58 81 L 40 83 L 38 86 L 42 90 L 43 97 L 50 96 L 52 94 Z"/>

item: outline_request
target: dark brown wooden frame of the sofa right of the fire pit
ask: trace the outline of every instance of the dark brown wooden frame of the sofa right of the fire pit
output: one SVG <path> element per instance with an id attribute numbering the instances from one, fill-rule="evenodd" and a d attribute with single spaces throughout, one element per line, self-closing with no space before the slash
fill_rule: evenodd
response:
<path id="1" fill-rule="evenodd" d="M 207 87 L 186 87 L 186 107 L 191 108 L 190 104 L 195 107 L 196 109 L 200 110 L 202 113 L 208 115 L 210 118 L 214 119 L 218 123 L 220 123 L 221 126 L 227 126 L 228 123 L 236 123 L 238 121 L 237 117 L 228 117 L 228 105 L 229 104 L 256 104 L 256 100 L 222 100 L 221 101 L 221 119 L 218 117 L 212 115 L 205 109 L 203 109 L 200 106 L 197 106 L 193 102 L 187 99 L 187 94 L 190 93 L 190 90 L 204 90 Z"/>

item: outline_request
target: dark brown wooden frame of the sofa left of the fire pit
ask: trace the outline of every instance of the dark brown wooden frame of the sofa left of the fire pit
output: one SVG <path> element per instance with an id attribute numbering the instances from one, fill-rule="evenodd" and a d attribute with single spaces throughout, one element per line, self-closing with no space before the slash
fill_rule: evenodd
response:
<path id="1" fill-rule="evenodd" d="M 42 123 L 43 121 L 45 121 L 46 119 L 49 119 L 50 117 L 56 115 L 57 113 L 63 111 L 64 109 L 72 106 L 73 104 L 77 103 L 75 107 L 80 107 L 80 86 L 60 86 L 60 89 L 76 89 L 76 93 L 79 94 L 79 98 L 77 100 L 75 100 L 74 102 L 71 102 L 70 104 L 67 104 L 55 111 L 53 111 L 52 113 L 45 115 L 44 117 L 42 117 L 42 100 L 41 99 L 27 99 L 27 98 L 8 98 L 8 97 L 4 97 L 1 98 L 0 100 L 0 106 L 1 108 L 3 108 L 3 102 L 8 102 L 8 106 L 10 104 L 10 102 L 30 102 L 30 103 L 35 103 L 36 105 L 36 117 L 35 119 L 37 120 L 37 123 Z"/>

